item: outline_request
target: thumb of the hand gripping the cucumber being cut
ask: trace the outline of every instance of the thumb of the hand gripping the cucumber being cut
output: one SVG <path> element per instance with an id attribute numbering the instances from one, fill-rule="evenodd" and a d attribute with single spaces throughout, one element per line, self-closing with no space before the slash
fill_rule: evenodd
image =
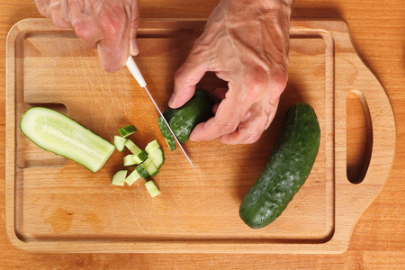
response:
<path id="1" fill-rule="evenodd" d="M 183 65 L 177 69 L 175 72 L 175 90 L 169 101 L 171 108 L 181 107 L 193 97 L 195 85 L 208 71 L 205 66 L 202 58 L 191 53 Z"/>

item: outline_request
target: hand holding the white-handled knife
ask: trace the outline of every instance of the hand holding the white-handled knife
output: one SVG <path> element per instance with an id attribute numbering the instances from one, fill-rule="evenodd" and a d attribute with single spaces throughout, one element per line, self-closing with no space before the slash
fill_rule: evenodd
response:
<path id="1" fill-rule="evenodd" d="M 138 55 L 139 0 L 35 0 L 40 14 L 61 28 L 72 28 L 96 48 L 101 66 L 115 72 Z"/>

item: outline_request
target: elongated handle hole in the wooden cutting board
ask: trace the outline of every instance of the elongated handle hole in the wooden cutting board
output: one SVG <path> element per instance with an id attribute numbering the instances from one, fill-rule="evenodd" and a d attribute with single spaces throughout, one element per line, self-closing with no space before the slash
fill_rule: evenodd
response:
<path id="1" fill-rule="evenodd" d="M 373 124 L 365 95 L 357 90 L 347 94 L 347 179 L 360 184 L 370 164 Z"/>

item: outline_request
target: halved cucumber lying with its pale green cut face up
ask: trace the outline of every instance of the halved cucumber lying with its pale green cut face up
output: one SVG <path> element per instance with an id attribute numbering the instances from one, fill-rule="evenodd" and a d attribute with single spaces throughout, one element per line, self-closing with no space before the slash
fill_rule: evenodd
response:
<path id="1" fill-rule="evenodd" d="M 23 134 L 40 148 L 67 157 L 98 171 L 115 147 L 66 115 L 43 107 L 32 107 L 20 121 Z"/>

